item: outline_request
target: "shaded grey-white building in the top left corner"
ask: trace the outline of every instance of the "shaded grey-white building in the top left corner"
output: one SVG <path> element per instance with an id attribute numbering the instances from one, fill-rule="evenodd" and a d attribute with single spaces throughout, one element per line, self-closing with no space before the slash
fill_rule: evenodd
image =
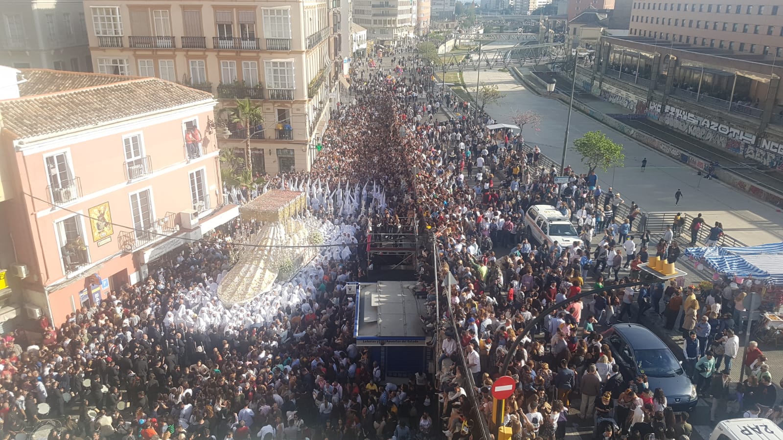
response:
<path id="1" fill-rule="evenodd" d="M 3 0 L 0 63 L 92 72 L 81 0 Z"/>

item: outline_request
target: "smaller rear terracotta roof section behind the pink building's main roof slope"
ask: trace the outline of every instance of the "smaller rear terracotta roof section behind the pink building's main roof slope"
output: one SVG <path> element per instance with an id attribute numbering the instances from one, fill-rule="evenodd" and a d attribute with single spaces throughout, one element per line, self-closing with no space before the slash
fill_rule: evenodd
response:
<path id="1" fill-rule="evenodd" d="M 25 80 L 19 85 L 21 96 L 64 92 L 76 88 L 94 87 L 113 82 L 128 81 L 133 77 L 106 74 L 82 74 L 48 69 L 20 69 Z"/>

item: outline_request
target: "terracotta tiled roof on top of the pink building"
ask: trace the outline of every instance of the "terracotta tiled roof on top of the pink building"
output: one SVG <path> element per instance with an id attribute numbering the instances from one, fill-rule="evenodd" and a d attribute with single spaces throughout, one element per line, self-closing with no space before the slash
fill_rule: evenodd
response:
<path id="1" fill-rule="evenodd" d="M 158 78 L 65 72 L 51 74 L 45 70 L 25 70 L 24 76 L 30 83 L 25 83 L 28 93 L 49 92 L 0 101 L 4 128 L 21 139 L 38 139 L 95 128 L 213 98 L 211 93 Z M 67 88 L 34 84 L 56 78 L 61 78 Z M 70 88 L 80 85 L 81 88 Z"/>

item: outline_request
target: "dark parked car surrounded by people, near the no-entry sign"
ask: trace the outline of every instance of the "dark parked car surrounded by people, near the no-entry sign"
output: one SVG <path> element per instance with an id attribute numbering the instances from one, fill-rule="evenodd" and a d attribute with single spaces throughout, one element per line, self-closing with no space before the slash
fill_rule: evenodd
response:
<path id="1" fill-rule="evenodd" d="M 698 403 L 696 387 L 685 375 L 677 357 L 648 328 L 639 324 L 615 324 L 604 332 L 604 341 L 625 380 L 646 374 L 650 389 L 662 388 L 675 413 L 691 411 Z"/>

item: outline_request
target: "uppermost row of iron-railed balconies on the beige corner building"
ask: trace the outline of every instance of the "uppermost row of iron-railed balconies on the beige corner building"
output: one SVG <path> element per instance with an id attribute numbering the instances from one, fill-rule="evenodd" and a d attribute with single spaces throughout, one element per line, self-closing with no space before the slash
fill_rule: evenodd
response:
<path id="1" fill-rule="evenodd" d="M 323 39 L 323 37 L 322 37 Z M 212 47 L 207 48 L 207 37 L 181 37 L 179 49 L 226 49 L 226 50 L 280 50 L 291 49 L 290 38 L 212 37 Z M 309 41 L 309 40 L 308 40 Z M 98 37 L 98 47 L 123 48 L 124 37 Z M 177 49 L 176 37 L 128 37 L 131 49 Z M 311 46 L 308 46 L 310 49 Z"/>

